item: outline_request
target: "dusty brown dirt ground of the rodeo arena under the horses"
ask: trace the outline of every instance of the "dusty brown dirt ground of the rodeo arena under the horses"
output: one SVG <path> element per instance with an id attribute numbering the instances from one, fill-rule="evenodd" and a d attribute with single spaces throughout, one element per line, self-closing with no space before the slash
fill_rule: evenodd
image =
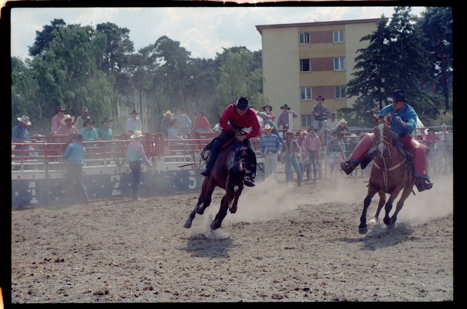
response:
<path id="1" fill-rule="evenodd" d="M 220 189 L 191 229 L 199 191 L 14 208 L 11 302 L 453 301 L 452 176 L 365 235 L 368 177 L 283 178 L 246 188 L 214 232 Z"/>

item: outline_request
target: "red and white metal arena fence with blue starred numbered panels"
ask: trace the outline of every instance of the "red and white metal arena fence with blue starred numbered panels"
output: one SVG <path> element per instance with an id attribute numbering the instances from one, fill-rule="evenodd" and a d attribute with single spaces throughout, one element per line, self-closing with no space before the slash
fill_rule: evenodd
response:
<path id="1" fill-rule="evenodd" d="M 351 128 L 352 133 L 371 132 L 373 129 Z M 283 131 L 283 130 L 281 130 Z M 303 132 L 306 129 L 293 130 L 298 144 L 302 145 Z M 121 140 L 85 141 L 85 165 L 83 183 L 90 199 L 107 197 L 129 197 L 132 191 L 133 174 L 126 160 L 127 145 L 132 141 L 131 133 L 123 133 Z M 200 151 L 217 132 L 183 133 L 184 140 L 166 140 L 162 133 L 143 132 L 144 152 L 153 165 L 149 169 L 142 165 L 140 193 L 152 195 L 170 191 L 199 190 L 204 176 L 199 170 L 205 162 L 200 160 Z M 434 150 L 431 168 L 436 172 L 453 170 L 453 135 L 446 132 L 440 138 Z M 423 137 L 415 134 L 414 137 Z M 441 136 L 440 136 L 441 137 Z M 318 178 L 326 178 L 329 171 L 325 168 L 326 132 L 321 139 L 321 160 L 318 166 Z M 356 141 L 360 141 L 358 134 Z M 72 142 L 71 135 L 49 134 L 43 141 L 36 143 L 11 143 L 11 184 L 12 206 L 66 203 L 73 188 L 66 182 L 66 162 L 63 154 L 66 146 Z M 260 137 L 252 139 L 257 164 L 264 169 L 260 155 Z M 352 143 L 344 140 L 346 156 L 350 155 Z M 348 149 L 348 150 L 347 150 Z M 302 155 L 303 158 L 303 155 Z M 299 164 L 304 169 L 302 159 Z M 262 169 L 257 169 L 257 180 L 264 178 Z M 281 169 L 279 169 L 281 170 Z M 371 166 L 361 170 L 360 176 L 369 176 Z M 342 172 L 341 172 L 342 173 Z M 303 173 L 304 174 L 304 173 Z M 357 176 L 355 169 L 354 176 Z"/>

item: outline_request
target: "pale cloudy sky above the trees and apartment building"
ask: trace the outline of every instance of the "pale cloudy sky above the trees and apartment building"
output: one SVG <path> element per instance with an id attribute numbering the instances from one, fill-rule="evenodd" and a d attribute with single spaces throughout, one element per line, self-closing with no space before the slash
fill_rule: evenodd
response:
<path id="1" fill-rule="evenodd" d="M 412 7 L 417 15 L 424 10 Z M 261 49 L 256 25 L 368 19 L 382 14 L 391 17 L 393 13 L 393 7 L 14 7 L 11 55 L 23 60 L 29 57 L 28 46 L 35 41 L 35 31 L 54 19 L 82 26 L 113 22 L 130 30 L 135 51 L 167 35 L 179 41 L 192 57 L 215 58 L 223 47 Z"/>

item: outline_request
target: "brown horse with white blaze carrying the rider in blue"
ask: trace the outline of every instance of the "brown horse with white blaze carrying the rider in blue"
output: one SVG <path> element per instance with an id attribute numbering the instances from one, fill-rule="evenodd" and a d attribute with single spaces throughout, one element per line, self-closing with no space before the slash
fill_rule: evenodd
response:
<path id="1" fill-rule="evenodd" d="M 390 119 L 388 116 L 376 116 L 375 124 L 375 144 L 378 147 L 378 155 L 371 169 L 370 181 L 368 183 L 368 195 L 363 202 L 363 212 L 360 217 L 360 225 L 358 232 L 365 234 L 367 228 L 367 209 L 371 203 L 371 199 L 376 193 L 380 196 L 378 209 L 375 217 L 370 220 L 370 223 L 377 223 L 378 216 L 382 206 L 386 202 L 386 193 L 389 194 L 388 202 L 384 206 L 386 214 L 383 222 L 388 228 L 393 228 L 397 220 L 397 214 L 402 209 L 404 201 L 409 197 L 415 184 L 415 177 L 412 176 L 412 167 L 406 163 L 406 155 L 398 147 L 393 146 L 394 137 L 391 134 Z M 396 199 L 399 192 L 402 191 L 402 196 L 397 202 L 396 211 L 392 217 L 389 217 L 389 211 L 392 209 L 392 203 Z M 415 194 L 415 193 L 414 193 Z"/>

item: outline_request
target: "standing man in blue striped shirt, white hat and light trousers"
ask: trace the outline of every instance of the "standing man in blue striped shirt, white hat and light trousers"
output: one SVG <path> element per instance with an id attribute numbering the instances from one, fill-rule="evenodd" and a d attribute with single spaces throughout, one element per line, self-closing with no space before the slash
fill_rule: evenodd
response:
<path id="1" fill-rule="evenodd" d="M 277 156 L 281 151 L 281 141 L 276 134 L 272 134 L 272 128 L 268 124 L 264 126 L 265 135 L 260 142 L 260 154 L 264 158 L 264 178 L 273 176 L 277 180 Z"/>

